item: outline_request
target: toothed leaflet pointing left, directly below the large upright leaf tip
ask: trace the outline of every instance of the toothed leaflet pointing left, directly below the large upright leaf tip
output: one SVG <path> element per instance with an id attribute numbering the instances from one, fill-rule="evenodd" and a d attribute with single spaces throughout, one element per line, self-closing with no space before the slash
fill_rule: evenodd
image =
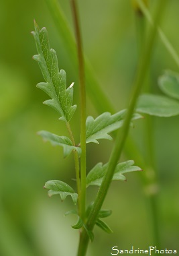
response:
<path id="1" fill-rule="evenodd" d="M 72 141 L 66 136 L 58 136 L 49 131 L 39 131 L 38 134 L 42 136 L 45 141 L 50 141 L 53 146 L 61 146 L 64 150 L 64 157 L 68 156 L 73 150 L 81 154 L 81 149 L 79 147 L 72 146 Z"/>

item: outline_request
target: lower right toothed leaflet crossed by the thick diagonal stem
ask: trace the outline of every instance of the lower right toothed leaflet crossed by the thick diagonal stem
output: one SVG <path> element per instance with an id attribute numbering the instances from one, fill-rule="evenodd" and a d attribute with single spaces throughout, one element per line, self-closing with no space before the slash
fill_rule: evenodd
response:
<path id="1" fill-rule="evenodd" d="M 123 173 L 141 170 L 141 168 L 139 168 L 138 166 L 133 166 L 133 164 L 133 160 L 117 164 L 115 168 L 115 173 L 113 175 L 113 181 L 126 181 L 126 178 L 123 175 Z M 99 162 L 97 165 L 95 165 L 95 167 L 93 167 L 93 169 L 90 172 L 88 172 L 88 175 L 86 177 L 86 187 L 90 185 L 101 186 L 103 177 L 107 172 L 107 165 L 108 163 L 103 165 L 101 162 Z"/>

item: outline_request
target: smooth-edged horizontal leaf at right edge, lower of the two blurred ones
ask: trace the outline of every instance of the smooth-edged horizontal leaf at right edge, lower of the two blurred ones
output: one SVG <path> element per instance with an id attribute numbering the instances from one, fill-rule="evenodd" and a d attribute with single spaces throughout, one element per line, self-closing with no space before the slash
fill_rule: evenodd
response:
<path id="1" fill-rule="evenodd" d="M 139 96 L 136 111 L 157 117 L 173 117 L 179 115 L 179 102 L 166 96 L 143 94 Z"/>

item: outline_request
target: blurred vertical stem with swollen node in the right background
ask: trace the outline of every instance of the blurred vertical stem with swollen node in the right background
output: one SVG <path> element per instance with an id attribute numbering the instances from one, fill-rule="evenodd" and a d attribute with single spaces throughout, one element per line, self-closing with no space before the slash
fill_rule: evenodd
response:
<path id="1" fill-rule="evenodd" d="M 142 6 L 147 8 L 147 5 L 145 3 L 142 2 Z M 161 12 L 159 13 L 159 15 L 161 15 Z M 140 7 L 140 13 L 135 11 L 135 19 L 136 19 L 136 30 L 137 30 L 137 44 L 138 44 L 138 53 L 139 56 L 141 54 L 141 49 L 143 46 L 143 42 L 145 41 L 145 15 Z M 145 92 L 150 92 L 151 88 L 150 88 L 150 82 L 149 82 L 149 75 L 147 75 L 147 81 L 145 81 Z M 143 143 L 145 145 L 145 148 L 147 148 L 147 159 L 145 160 L 145 164 L 143 165 L 143 167 L 145 166 L 145 181 L 143 181 L 143 185 L 145 185 L 145 187 L 152 187 L 155 186 L 157 184 L 156 181 L 156 172 L 154 172 L 154 147 L 153 147 L 153 143 L 152 143 L 152 117 L 146 117 L 145 120 L 145 140 Z M 134 158 L 135 159 L 135 158 Z M 141 165 L 139 165 L 141 166 Z M 143 168 L 142 167 L 142 168 Z M 148 173 L 149 172 L 149 173 Z M 152 179 L 150 179 L 149 177 L 147 177 L 147 174 L 154 174 L 152 175 Z M 157 198 L 157 193 L 158 190 L 155 191 L 155 193 L 149 193 L 148 197 L 147 197 L 147 201 L 149 203 L 149 214 L 150 214 L 150 223 L 152 226 L 152 242 L 157 246 L 160 247 L 160 230 L 159 230 L 159 224 L 158 224 L 158 212 L 159 212 L 159 207 L 158 207 L 158 198 Z"/>

